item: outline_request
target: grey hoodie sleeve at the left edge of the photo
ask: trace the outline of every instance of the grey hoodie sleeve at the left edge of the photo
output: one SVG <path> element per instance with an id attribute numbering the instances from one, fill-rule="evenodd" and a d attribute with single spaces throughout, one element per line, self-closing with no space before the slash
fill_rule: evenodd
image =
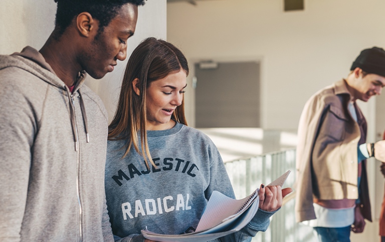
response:
<path id="1" fill-rule="evenodd" d="M 0 241 L 20 241 L 38 114 L 12 75 L 0 87 Z"/>

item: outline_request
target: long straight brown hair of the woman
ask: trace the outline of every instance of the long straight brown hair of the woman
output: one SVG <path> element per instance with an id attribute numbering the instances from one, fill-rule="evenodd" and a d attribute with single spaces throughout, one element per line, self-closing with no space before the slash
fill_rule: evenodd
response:
<path id="1" fill-rule="evenodd" d="M 151 82 L 181 69 L 188 75 L 186 58 L 178 48 L 166 41 L 150 37 L 142 41 L 132 52 L 124 73 L 117 110 L 108 130 L 109 140 L 129 140 L 123 157 L 133 145 L 144 157 L 147 167 L 148 160 L 155 166 L 147 143 L 146 90 Z M 136 95 L 132 86 L 136 78 L 139 79 L 137 86 L 140 95 Z M 184 116 L 184 98 L 182 104 L 176 107 L 172 119 L 187 125 Z M 139 152 L 138 131 L 142 152 Z"/>

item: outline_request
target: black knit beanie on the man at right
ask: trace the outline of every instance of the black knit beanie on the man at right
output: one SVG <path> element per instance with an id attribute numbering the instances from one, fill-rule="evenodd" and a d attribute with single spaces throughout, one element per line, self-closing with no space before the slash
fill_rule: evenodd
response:
<path id="1" fill-rule="evenodd" d="M 351 65 L 350 71 L 357 67 L 368 74 L 385 77 L 385 51 L 378 47 L 362 50 Z"/>

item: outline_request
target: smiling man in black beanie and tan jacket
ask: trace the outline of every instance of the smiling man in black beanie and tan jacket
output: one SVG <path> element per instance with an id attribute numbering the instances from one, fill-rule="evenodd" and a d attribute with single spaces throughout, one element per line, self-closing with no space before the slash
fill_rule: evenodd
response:
<path id="1" fill-rule="evenodd" d="M 367 157 L 373 154 L 365 144 L 366 121 L 355 101 L 381 93 L 385 51 L 362 50 L 350 70 L 346 79 L 307 101 L 298 126 L 296 219 L 312 226 L 320 241 L 350 241 L 350 230 L 362 232 L 364 218 L 371 221 L 366 160 L 360 150 Z"/>

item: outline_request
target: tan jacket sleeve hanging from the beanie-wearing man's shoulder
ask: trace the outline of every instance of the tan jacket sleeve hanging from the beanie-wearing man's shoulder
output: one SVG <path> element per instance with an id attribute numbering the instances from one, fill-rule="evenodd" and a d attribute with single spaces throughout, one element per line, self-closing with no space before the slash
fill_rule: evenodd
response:
<path id="1" fill-rule="evenodd" d="M 318 96 L 313 96 L 305 104 L 299 120 L 295 185 L 297 222 L 316 218 L 313 207 L 311 157 L 324 110 L 324 102 L 320 101 Z"/>

